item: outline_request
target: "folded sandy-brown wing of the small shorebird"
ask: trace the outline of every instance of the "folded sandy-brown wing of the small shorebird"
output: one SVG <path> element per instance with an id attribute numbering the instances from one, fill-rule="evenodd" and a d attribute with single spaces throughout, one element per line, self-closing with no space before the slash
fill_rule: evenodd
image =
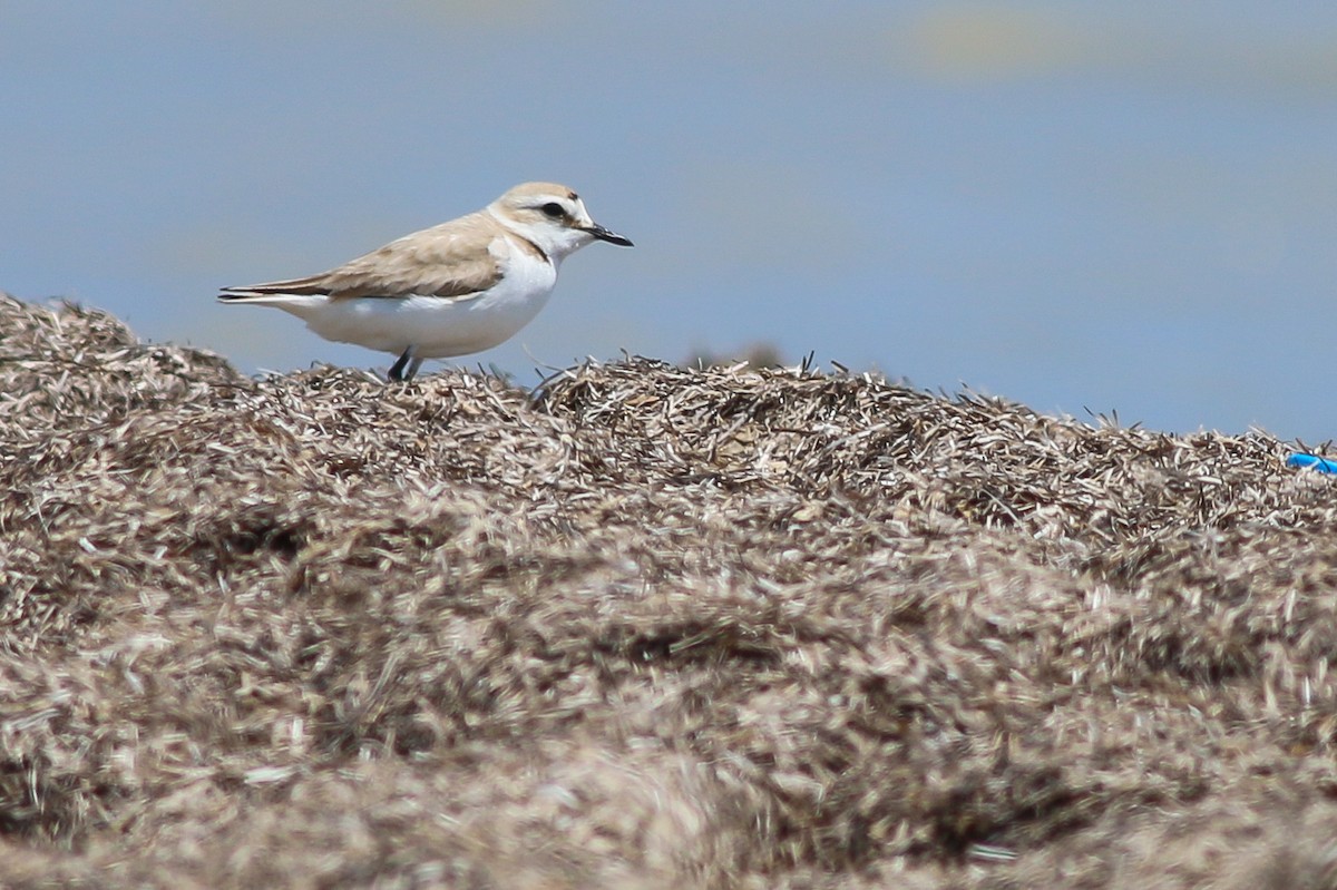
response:
<path id="1" fill-rule="evenodd" d="M 501 281 L 501 267 L 489 250 L 497 237 L 491 219 L 469 214 L 392 241 L 328 273 L 223 290 L 251 294 L 329 294 L 334 299 L 397 298 L 410 294 L 468 297 Z"/>

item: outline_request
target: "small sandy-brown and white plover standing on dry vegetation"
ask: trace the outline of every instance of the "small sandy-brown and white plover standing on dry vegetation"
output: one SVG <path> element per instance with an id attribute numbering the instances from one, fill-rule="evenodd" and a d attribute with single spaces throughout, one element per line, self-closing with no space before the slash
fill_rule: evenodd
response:
<path id="1" fill-rule="evenodd" d="M 274 306 L 325 339 L 396 354 L 388 378 L 409 381 L 424 359 L 480 353 L 515 335 L 548 302 L 562 261 L 595 241 L 632 246 L 566 186 L 527 182 L 329 271 L 222 287 L 218 301 Z"/>

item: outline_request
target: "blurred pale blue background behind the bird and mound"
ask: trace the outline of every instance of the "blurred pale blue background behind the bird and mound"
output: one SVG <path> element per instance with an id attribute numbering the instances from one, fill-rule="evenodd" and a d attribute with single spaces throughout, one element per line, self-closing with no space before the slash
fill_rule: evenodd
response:
<path id="1" fill-rule="evenodd" d="M 1337 436 L 1329 0 L 3 0 L 0 120 L 0 290 L 253 373 L 392 357 L 217 287 L 555 179 L 636 247 L 463 363 L 765 346 Z"/>

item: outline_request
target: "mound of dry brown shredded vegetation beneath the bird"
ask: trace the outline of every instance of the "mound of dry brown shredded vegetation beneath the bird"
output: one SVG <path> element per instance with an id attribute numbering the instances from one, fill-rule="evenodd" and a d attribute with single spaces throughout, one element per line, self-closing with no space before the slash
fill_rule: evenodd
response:
<path id="1" fill-rule="evenodd" d="M 0 297 L 0 885 L 1337 887 L 1288 450 Z"/>

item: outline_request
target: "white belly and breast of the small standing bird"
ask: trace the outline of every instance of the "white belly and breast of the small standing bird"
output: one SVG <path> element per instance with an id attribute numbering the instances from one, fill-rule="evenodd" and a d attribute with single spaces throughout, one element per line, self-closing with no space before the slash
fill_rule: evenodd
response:
<path id="1" fill-rule="evenodd" d="M 556 270 L 545 262 L 512 263 L 492 290 L 464 299 L 286 297 L 266 302 L 302 318 L 325 339 L 394 354 L 412 346 L 418 358 L 449 358 L 509 339 L 539 314 L 556 281 Z"/>

